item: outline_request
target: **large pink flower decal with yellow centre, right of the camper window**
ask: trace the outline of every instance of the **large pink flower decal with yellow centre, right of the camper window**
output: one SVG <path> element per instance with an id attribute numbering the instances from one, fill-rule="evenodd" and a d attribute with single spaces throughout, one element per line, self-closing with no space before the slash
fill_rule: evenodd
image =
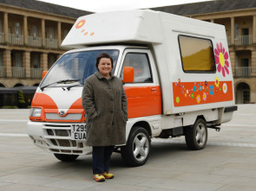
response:
<path id="1" fill-rule="evenodd" d="M 228 54 L 224 47 L 222 47 L 222 43 L 217 43 L 217 48 L 214 49 L 215 61 L 217 65 L 218 72 L 222 72 L 222 75 L 225 77 L 226 73 L 229 74 L 229 62 L 228 62 Z"/>

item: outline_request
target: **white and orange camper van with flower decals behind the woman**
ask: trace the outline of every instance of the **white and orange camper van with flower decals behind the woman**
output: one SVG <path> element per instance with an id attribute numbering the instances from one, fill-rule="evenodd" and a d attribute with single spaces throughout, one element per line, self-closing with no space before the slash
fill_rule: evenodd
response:
<path id="1" fill-rule="evenodd" d="M 86 146 L 84 80 L 95 58 L 113 57 L 128 98 L 126 145 L 115 151 L 143 165 L 151 138 L 185 136 L 189 149 L 207 144 L 207 128 L 233 117 L 233 72 L 224 26 L 152 10 L 97 13 L 77 19 L 56 61 L 37 88 L 28 134 L 62 161 L 91 153 Z"/>

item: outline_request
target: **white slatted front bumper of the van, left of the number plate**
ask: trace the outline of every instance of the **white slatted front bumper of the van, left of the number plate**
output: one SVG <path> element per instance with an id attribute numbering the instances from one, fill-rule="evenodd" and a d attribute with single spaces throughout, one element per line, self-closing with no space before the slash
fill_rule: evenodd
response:
<path id="1" fill-rule="evenodd" d="M 27 132 L 39 148 L 50 153 L 88 155 L 92 148 L 85 141 L 71 140 L 71 124 L 32 122 L 27 124 Z"/>

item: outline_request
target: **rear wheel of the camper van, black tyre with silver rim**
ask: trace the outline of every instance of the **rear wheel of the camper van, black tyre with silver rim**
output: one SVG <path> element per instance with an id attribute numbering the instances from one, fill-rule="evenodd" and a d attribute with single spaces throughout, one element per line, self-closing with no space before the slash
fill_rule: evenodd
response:
<path id="1" fill-rule="evenodd" d="M 207 123 L 198 118 L 192 127 L 188 127 L 185 133 L 187 147 L 190 150 L 202 150 L 207 145 Z"/>

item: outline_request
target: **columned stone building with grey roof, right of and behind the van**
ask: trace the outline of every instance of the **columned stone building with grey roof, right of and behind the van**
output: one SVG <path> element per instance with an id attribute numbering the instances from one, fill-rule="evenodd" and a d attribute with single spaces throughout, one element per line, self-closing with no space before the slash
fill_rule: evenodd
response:
<path id="1" fill-rule="evenodd" d="M 216 0 L 154 8 L 225 25 L 237 104 L 256 103 L 256 1 Z"/>

